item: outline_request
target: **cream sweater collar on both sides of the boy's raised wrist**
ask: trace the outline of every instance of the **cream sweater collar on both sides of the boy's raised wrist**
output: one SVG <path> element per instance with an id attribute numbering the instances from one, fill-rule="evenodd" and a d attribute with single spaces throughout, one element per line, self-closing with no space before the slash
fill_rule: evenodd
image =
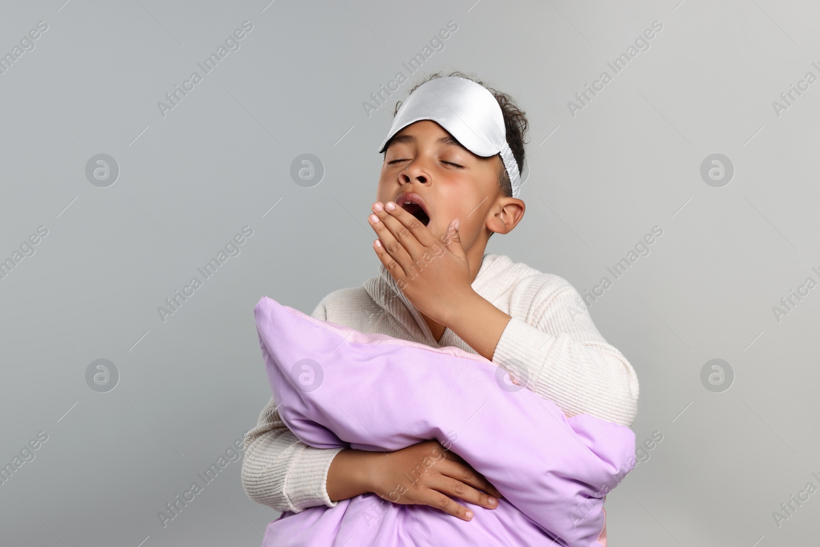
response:
<path id="1" fill-rule="evenodd" d="M 485 299 L 492 300 L 503 287 L 494 287 L 491 281 L 498 275 L 503 267 L 508 266 L 510 259 L 505 255 L 485 253 L 481 258 L 481 266 L 476 274 L 476 279 L 472 282 L 472 288 L 476 293 L 481 294 Z M 421 312 L 410 302 L 407 296 L 399 289 L 399 284 L 387 270 L 384 264 L 379 263 L 379 275 L 371 277 L 362 286 L 370 294 L 376 304 L 384 312 L 397 322 L 408 333 L 408 340 L 418 340 L 421 338 L 424 344 L 434 348 L 440 347 L 434 339 L 430 326 L 421 316 Z M 494 289 L 494 291 L 491 291 Z M 419 334 L 421 333 L 421 336 Z M 444 338 L 442 338 L 444 340 Z"/>

